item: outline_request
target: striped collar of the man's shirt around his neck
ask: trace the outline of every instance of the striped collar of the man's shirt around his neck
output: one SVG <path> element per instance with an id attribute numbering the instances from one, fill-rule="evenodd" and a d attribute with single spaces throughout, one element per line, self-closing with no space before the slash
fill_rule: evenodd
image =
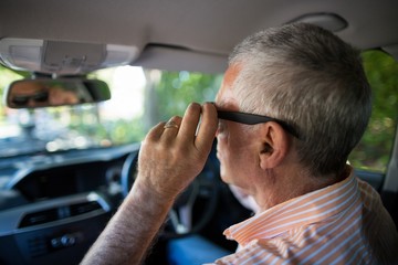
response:
<path id="1" fill-rule="evenodd" d="M 230 226 L 223 234 L 244 246 L 255 239 L 272 239 L 289 230 L 321 222 L 354 203 L 359 195 L 357 186 L 350 169 L 349 177 L 343 181 L 277 204 Z M 350 203 L 345 203 L 347 201 Z"/>

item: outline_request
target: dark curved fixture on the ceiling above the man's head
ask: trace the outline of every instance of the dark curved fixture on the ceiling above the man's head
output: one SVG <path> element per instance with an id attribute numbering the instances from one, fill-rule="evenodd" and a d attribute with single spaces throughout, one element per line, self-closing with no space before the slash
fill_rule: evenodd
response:
<path id="1" fill-rule="evenodd" d="M 293 22 L 303 22 L 311 23 L 329 30 L 332 32 L 337 32 L 347 28 L 348 23 L 345 19 L 335 13 L 310 13 L 298 17 L 290 21 Z"/>

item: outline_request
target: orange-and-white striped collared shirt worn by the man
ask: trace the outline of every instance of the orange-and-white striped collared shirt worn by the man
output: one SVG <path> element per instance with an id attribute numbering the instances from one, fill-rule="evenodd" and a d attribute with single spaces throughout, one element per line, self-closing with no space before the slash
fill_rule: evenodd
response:
<path id="1" fill-rule="evenodd" d="M 240 247 L 216 264 L 398 264 L 397 229 L 378 193 L 353 170 L 224 234 Z"/>

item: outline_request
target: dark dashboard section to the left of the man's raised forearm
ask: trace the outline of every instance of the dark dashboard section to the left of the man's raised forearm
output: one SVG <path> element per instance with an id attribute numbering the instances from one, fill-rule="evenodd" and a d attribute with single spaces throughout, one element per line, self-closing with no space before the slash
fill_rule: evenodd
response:
<path id="1" fill-rule="evenodd" d="M 0 264 L 78 264 L 123 200 L 139 145 L 1 159 Z"/>

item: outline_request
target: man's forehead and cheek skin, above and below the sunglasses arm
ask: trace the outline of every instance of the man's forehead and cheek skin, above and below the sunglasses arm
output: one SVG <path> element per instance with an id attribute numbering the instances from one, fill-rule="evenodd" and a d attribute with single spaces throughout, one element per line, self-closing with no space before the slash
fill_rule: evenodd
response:
<path id="1" fill-rule="evenodd" d="M 239 110 L 238 98 L 232 91 L 234 80 L 239 74 L 239 65 L 230 66 L 216 97 L 216 105 L 220 110 Z M 217 132 L 217 157 L 220 160 L 220 173 L 224 182 L 248 189 L 255 163 L 254 131 L 248 125 L 228 120 L 219 120 Z M 258 165 L 258 163 L 256 163 Z"/>

